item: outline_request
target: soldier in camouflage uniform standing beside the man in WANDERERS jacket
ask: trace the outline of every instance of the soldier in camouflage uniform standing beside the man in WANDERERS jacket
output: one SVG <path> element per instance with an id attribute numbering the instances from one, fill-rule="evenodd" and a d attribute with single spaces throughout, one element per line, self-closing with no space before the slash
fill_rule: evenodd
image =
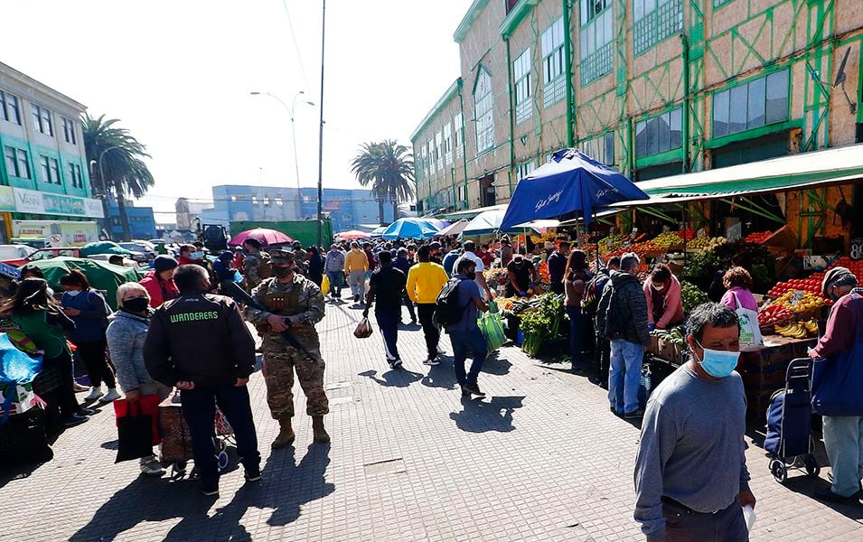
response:
<path id="1" fill-rule="evenodd" d="M 312 416 L 314 442 L 328 443 L 324 415 L 329 403 L 324 393 L 324 359 L 314 324 L 324 318 L 324 295 L 312 281 L 295 273 L 294 255 L 271 250 L 273 278 L 264 280 L 252 292 L 259 304 L 267 308 L 246 309 L 246 319 L 255 324 L 264 340 L 264 378 L 267 382 L 267 404 L 280 431 L 273 441 L 274 449 L 294 442 L 291 417 L 294 416 L 294 371 L 305 392 L 305 411 Z M 291 332 L 307 350 L 297 349 L 280 334 Z"/>

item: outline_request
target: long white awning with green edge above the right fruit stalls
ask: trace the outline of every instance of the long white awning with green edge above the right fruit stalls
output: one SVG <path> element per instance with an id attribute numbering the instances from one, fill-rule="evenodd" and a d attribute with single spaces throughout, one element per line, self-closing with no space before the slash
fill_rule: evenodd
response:
<path id="1" fill-rule="evenodd" d="M 849 145 L 638 182 L 637 186 L 649 194 L 651 199 L 616 203 L 614 206 L 634 207 L 750 196 L 843 184 L 861 179 L 863 145 Z"/>

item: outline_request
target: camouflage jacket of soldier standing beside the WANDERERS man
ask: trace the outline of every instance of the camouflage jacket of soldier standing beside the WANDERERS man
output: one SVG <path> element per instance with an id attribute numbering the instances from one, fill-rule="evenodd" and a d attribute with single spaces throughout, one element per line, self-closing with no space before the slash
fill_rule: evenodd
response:
<path id="1" fill-rule="evenodd" d="M 289 316 L 292 332 L 313 334 L 314 324 L 324 319 L 324 295 L 321 289 L 302 275 L 295 275 L 287 284 L 267 278 L 252 291 L 252 297 L 267 311 L 246 308 L 246 320 L 255 324 L 258 332 L 272 333 L 267 324 L 267 316 Z"/>

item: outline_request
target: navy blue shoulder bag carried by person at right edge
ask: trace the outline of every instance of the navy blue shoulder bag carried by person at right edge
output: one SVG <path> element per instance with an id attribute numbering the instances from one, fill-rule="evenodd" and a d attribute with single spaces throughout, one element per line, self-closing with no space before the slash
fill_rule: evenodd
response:
<path id="1" fill-rule="evenodd" d="M 863 416 L 863 297 L 851 306 L 858 325 L 854 345 L 812 364 L 812 410 L 821 416 Z"/>

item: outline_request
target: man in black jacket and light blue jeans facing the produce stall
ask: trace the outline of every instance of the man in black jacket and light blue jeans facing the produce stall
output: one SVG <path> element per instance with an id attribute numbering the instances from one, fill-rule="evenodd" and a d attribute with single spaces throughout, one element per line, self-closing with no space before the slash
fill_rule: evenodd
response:
<path id="1" fill-rule="evenodd" d="M 639 263 L 632 252 L 624 254 L 620 271 L 612 271 L 596 307 L 596 330 L 604 332 L 605 338 L 611 341 L 608 401 L 613 412 L 628 419 L 643 415 L 638 405 L 638 386 L 644 349 L 651 343 L 647 329 L 647 298 L 638 282 Z M 623 397 L 623 404 L 620 397 Z"/>

